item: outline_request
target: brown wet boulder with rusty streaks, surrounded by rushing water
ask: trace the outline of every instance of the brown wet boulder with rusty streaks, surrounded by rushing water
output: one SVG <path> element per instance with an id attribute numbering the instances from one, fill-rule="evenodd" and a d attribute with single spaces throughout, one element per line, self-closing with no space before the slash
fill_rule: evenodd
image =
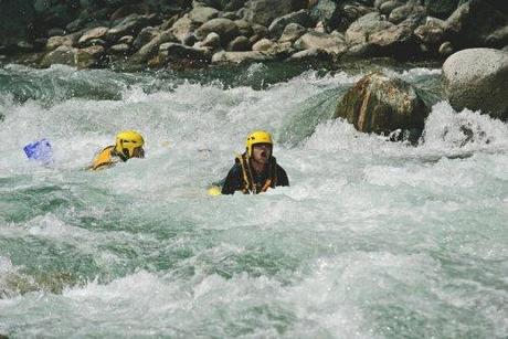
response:
<path id="1" fill-rule="evenodd" d="M 335 117 L 364 133 L 423 130 L 428 108 L 406 82 L 372 73 L 362 77 L 338 103 Z"/>

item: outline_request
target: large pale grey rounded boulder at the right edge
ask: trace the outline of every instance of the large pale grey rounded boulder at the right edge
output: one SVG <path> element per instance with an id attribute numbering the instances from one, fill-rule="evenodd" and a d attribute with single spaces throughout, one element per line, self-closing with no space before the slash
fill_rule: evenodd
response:
<path id="1" fill-rule="evenodd" d="M 508 119 L 508 53 L 494 49 L 469 49 L 443 64 L 445 93 L 457 110 L 480 109 Z"/>

